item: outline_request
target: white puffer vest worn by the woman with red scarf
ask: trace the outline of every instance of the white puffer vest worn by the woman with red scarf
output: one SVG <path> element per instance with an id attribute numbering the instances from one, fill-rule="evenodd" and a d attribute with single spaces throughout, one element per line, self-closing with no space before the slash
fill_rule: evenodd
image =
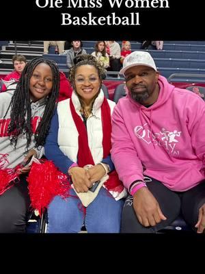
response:
<path id="1" fill-rule="evenodd" d="M 104 100 L 104 93 L 102 89 L 96 100 L 94 101 L 92 114 L 87 119 L 87 136 L 90 151 L 94 159 L 94 163 L 101 162 L 103 157 L 102 150 L 102 121 L 101 121 L 101 105 Z M 107 100 L 111 113 L 115 103 Z M 80 113 L 81 104 L 77 95 L 72 92 L 72 103 L 74 108 L 81 117 Z M 58 103 L 57 114 L 59 118 L 59 130 L 58 130 L 58 145 L 59 149 L 70 158 L 73 162 L 77 162 L 77 153 L 79 149 L 77 127 L 72 119 L 70 111 L 70 99 L 66 99 Z"/>

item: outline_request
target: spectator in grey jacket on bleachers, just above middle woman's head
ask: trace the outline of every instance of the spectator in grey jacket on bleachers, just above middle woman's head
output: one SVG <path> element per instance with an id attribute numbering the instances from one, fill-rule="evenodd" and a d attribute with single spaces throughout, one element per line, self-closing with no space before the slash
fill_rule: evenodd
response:
<path id="1" fill-rule="evenodd" d="M 72 48 L 68 49 L 67 52 L 67 66 L 70 69 L 74 65 L 74 58 L 77 55 L 86 54 L 85 49 L 83 49 L 82 41 L 72 41 L 71 42 Z"/>

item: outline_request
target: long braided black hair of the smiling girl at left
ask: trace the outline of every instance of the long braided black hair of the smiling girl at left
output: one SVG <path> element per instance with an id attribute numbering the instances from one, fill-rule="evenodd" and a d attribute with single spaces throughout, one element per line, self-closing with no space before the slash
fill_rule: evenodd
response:
<path id="1" fill-rule="evenodd" d="M 46 60 L 42 57 L 34 58 L 28 62 L 23 70 L 19 82 L 12 96 L 11 114 L 10 114 L 10 125 L 8 133 L 11 135 L 10 141 L 11 145 L 16 147 L 18 136 L 20 134 L 26 134 L 27 136 L 27 147 L 31 143 L 31 136 L 33 135 L 31 127 L 31 99 L 29 84 L 30 79 L 33 74 L 33 70 L 38 66 L 38 64 L 44 63 L 51 67 L 53 73 L 53 87 L 46 99 L 46 106 L 42 120 L 36 129 L 34 136 L 35 147 L 43 146 L 45 143 L 46 135 L 49 131 L 51 118 L 55 110 L 55 102 L 57 101 L 59 93 L 59 69 L 55 62 L 51 60 Z"/>

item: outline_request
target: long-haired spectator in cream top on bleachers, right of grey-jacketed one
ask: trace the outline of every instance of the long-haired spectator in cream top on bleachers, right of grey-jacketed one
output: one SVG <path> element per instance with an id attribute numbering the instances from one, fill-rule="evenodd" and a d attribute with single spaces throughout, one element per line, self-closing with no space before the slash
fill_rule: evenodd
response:
<path id="1" fill-rule="evenodd" d="M 92 52 L 92 55 L 100 61 L 102 66 L 105 69 L 109 67 L 109 55 L 106 52 L 106 45 L 105 41 L 97 41 L 95 45 L 95 51 Z"/>

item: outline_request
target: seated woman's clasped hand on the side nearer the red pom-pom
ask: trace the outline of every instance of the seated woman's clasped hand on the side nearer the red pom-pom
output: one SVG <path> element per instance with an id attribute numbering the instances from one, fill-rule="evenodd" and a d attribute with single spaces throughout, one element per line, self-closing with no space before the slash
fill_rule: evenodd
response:
<path id="1" fill-rule="evenodd" d="M 69 174 L 72 178 L 72 184 L 77 192 L 87 192 L 88 188 L 92 186 L 89 174 L 82 167 L 72 167 L 69 169 Z"/>

